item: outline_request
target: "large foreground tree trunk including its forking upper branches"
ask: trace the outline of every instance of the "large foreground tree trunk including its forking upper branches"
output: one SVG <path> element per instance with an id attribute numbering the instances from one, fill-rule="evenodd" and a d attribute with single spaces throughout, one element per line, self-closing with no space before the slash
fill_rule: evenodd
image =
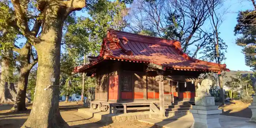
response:
<path id="1" fill-rule="evenodd" d="M 42 30 L 39 37 L 30 31 L 26 16 L 28 1 L 11 0 L 22 34 L 33 43 L 38 54 L 37 83 L 32 110 L 22 128 L 69 127 L 59 111 L 60 44 L 67 16 L 85 6 L 85 0 L 39 0 Z M 29 1 L 30 2 L 30 1 Z"/>

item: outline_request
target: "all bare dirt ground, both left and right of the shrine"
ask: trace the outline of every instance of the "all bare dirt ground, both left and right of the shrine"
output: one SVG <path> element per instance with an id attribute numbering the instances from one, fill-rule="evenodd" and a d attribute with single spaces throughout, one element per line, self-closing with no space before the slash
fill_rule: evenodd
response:
<path id="1" fill-rule="evenodd" d="M 250 103 L 241 101 L 231 101 L 225 106 L 219 107 L 223 109 L 223 115 L 251 118 L 252 112 L 248 108 Z M 0 128 L 20 128 L 29 116 L 32 104 L 27 104 L 26 112 L 15 113 L 10 111 L 13 106 L 10 104 L 0 104 Z M 69 126 L 73 128 L 155 128 L 155 126 L 140 122 L 121 122 L 121 123 L 102 123 L 94 118 L 85 118 L 77 116 L 78 108 L 82 107 L 82 103 L 76 102 L 60 102 L 60 113 Z"/>

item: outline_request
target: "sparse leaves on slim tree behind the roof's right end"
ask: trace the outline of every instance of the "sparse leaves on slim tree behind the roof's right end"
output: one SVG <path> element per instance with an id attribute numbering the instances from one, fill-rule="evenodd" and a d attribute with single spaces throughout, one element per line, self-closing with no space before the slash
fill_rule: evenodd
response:
<path id="1" fill-rule="evenodd" d="M 220 34 L 220 33 L 219 33 Z M 218 63 L 217 59 L 217 52 L 216 52 L 216 41 L 215 41 L 215 35 L 210 33 L 208 34 L 208 39 L 206 40 L 206 45 L 203 46 L 203 50 L 199 52 L 200 54 L 203 54 L 202 57 L 199 59 L 202 59 L 204 61 L 210 61 L 210 62 L 216 62 Z M 223 60 L 226 60 L 225 53 L 227 52 L 227 45 L 219 37 L 219 56 L 220 56 L 220 61 L 222 62 Z"/>

